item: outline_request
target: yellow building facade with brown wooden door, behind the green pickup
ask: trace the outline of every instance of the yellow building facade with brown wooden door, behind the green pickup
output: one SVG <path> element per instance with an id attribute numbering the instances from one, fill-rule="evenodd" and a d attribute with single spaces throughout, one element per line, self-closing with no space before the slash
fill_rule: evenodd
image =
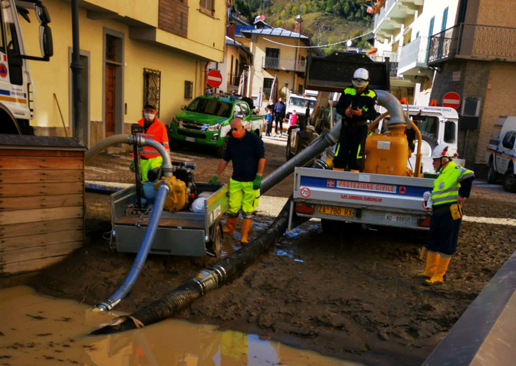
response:
<path id="1" fill-rule="evenodd" d="M 69 1 L 45 0 L 52 28 L 50 61 L 29 61 L 34 81 L 37 135 L 73 135 L 72 27 Z M 208 62 L 225 48 L 225 1 L 90 0 L 80 2 L 79 46 L 83 66 L 82 126 L 88 146 L 130 131 L 144 103 L 156 105 L 168 124 L 174 113 L 201 95 Z M 20 17 L 25 48 L 38 37 Z M 209 29 L 210 31 L 206 31 Z M 37 53 L 37 52 L 33 52 Z M 62 115 L 62 118 L 61 118 Z"/>

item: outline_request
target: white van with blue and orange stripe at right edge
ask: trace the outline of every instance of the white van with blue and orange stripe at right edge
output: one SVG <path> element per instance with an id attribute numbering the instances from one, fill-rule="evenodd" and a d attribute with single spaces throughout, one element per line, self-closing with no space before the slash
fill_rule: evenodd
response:
<path id="1" fill-rule="evenodd" d="M 496 183 L 498 174 L 503 175 L 507 192 L 516 192 L 516 117 L 501 115 L 496 120 L 486 151 L 488 164 L 487 181 Z"/>

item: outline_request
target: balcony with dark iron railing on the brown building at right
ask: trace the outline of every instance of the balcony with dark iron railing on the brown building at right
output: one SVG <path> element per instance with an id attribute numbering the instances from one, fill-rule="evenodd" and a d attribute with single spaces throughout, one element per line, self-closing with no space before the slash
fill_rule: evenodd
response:
<path id="1" fill-rule="evenodd" d="M 430 37 L 428 64 L 453 58 L 516 62 L 516 28 L 459 23 Z"/>

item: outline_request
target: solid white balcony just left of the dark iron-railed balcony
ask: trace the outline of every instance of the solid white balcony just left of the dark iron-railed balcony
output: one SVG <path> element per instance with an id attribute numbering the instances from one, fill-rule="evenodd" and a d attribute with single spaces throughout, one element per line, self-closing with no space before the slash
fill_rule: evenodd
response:
<path id="1" fill-rule="evenodd" d="M 428 37 L 418 37 L 401 47 L 398 62 L 398 74 L 406 76 L 432 77 L 433 70 L 428 70 Z"/>

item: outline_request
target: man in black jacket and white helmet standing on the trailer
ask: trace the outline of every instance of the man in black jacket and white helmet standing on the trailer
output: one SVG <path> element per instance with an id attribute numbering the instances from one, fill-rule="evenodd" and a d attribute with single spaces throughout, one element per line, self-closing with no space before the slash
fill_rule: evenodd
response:
<path id="1" fill-rule="evenodd" d="M 374 120 L 378 112 L 375 110 L 376 93 L 367 88 L 369 72 L 357 69 L 352 84 L 344 89 L 335 106 L 343 118 L 333 169 L 358 172 L 367 137 L 367 120 Z"/>

